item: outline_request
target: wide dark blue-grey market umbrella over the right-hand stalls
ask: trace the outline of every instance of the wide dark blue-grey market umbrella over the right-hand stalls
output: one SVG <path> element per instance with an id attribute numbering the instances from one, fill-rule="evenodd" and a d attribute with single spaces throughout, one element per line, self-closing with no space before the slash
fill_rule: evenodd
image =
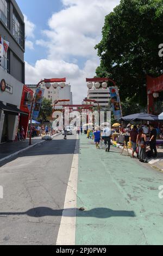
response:
<path id="1" fill-rule="evenodd" d="M 120 120 L 123 121 L 137 121 L 137 120 L 146 120 L 146 121 L 158 121 L 158 115 L 152 115 L 147 113 L 137 113 L 126 115 L 126 117 L 122 117 Z"/>

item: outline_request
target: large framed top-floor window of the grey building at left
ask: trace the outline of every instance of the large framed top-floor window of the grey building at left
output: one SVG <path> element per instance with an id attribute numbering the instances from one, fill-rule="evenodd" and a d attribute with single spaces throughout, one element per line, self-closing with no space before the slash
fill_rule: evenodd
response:
<path id="1" fill-rule="evenodd" d="M 18 44 L 20 44 L 23 47 L 23 25 L 20 21 L 18 21 L 18 18 L 15 13 L 12 14 L 12 34 L 14 35 Z"/>

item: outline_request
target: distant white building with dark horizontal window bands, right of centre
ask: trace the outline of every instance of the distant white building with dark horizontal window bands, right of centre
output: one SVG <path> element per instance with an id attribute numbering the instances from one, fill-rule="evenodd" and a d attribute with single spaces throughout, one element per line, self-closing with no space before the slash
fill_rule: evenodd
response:
<path id="1" fill-rule="evenodd" d="M 88 90 L 87 99 L 96 100 L 99 103 L 99 106 L 107 107 L 107 106 L 109 106 L 109 102 L 110 102 L 109 88 L 96 89 L 93 87 L 92 89 Z M 97 106 L 97 105 L 98 104 L 95 103 L 95 106 Z"/>

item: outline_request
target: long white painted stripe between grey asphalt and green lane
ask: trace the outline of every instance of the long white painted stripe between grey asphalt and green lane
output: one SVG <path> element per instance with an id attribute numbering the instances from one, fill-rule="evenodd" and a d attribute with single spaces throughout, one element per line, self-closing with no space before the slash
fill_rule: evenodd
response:
<path id="1" fill-rule="evenodd" d="M 76 242 L 76 209 L 78 184 L 79 137 L 77 135 L 70 177 L 67 184 L 64 211 L 62 212 L 60 228 L 56 245 L 75 245 Z"/>

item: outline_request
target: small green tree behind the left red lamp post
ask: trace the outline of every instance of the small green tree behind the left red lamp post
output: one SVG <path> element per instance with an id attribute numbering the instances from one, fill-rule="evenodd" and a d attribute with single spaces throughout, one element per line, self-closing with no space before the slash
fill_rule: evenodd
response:
<path id="1" fill-rule="evenodd" d="M 45 97 L 43 97 L 39 118 L 42 118 L 42 120 L 46 120 L 47 117 L 52 115 L 52 111 L 52 100 L 48 100 Z"/>

